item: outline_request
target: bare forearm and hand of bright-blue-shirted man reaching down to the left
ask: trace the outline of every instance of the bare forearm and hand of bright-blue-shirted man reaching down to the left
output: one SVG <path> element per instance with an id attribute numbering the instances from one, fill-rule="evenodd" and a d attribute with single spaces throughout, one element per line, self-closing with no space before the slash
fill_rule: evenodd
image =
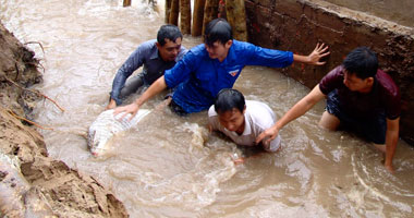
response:
<path id="1" fill-rule="evenodd" d="M 123 116 L 125 117 L 127 113 L 131 113 L 132 116 L 130 117 L 130 120 L 132 120 L 132 118 L 135 117 L 136 112 L 138 112 L 139 107 L 144 105 L 144 102 L 146 102 L 148 99 L 150 99 L 155 95 L 161 93 L 166 88 L 167 88 L 166 80 L 163 76 L 161 76 L 155 83 L 153 83 L 153 85 L 149 86 L 149 88 L 145 90 L 144 94 L 141 95 L 139 98 L 136 99 L 134 102 L 124 107 L 115 108 L 114 114 L 118 114 L 120 112 L 125 112 L 125 114 Z"/>

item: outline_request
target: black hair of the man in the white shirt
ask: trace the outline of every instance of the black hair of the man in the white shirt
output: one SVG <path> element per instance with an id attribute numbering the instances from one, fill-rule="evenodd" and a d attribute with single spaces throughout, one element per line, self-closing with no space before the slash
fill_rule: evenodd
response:
<path id="1" fill-rule="evenodd" d="M 243 112 L 245 105 L 246 102 L 242 93 L 232 88 L 223 88 L 217 94 L 215 110 L 217 113 L 222 113 L 235 108 L 240 112 Z"/>

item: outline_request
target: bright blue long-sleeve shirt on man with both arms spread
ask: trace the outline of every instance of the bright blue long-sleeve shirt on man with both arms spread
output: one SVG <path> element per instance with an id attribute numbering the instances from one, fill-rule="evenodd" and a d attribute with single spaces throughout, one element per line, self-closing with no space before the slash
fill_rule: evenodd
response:
<path id="1" fill-rule="evenodd" d="M 192 48 L 174 68 L 167 70 L 167 86 L 175 88 L 172 99 L 186 112 L 208 109 L 222 88 L 231 88 L 245 65 L 284 68 L 293 53 L 233 40 L 227 58 L 210 59 L 204 44 Z"/>

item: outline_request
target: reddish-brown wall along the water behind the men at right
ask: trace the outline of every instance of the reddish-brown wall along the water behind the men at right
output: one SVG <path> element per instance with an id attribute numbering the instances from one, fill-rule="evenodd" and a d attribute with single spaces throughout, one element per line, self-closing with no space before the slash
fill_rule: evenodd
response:
<path id="1" fill-rule="evenodd" d="M 414 145 L 412 27 L 320 0 L 246 0 L 245 5 L 248 38 L 255 45 L 301 55 L 308 55 L 317 41 L 330 47 L 331 55 L 324 66 L 295 64 L 283 70 L 308 87 L 341 64 L 354 48 L 367 46 L 375 50 L 380 68 L 401 89 L 400 136 Z"/>

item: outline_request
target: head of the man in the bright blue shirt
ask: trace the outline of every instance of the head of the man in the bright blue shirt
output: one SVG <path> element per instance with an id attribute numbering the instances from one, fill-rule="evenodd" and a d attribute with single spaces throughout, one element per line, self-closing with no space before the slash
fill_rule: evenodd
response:
<path id="1" fill-rule="evenodd" d="M 230 24 L 223 19 L 215 19 L 206 26 L 204 33 L 206 50 L 211 59 L 226 59 L 231 45 L 233 34 Z"/>

